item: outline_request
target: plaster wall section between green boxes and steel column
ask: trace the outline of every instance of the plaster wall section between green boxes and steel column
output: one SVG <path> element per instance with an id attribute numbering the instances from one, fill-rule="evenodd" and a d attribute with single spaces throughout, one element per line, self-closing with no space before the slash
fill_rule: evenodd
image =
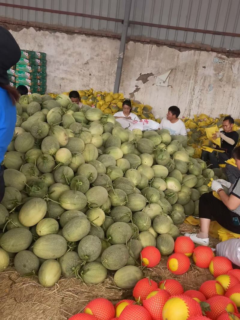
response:
<path id="1" fill-rule="evenodd" d="M 112 91 L 119 40 L 34 28 L 11 31 L 21 49 L 47 53 L 47 91 Z"/>

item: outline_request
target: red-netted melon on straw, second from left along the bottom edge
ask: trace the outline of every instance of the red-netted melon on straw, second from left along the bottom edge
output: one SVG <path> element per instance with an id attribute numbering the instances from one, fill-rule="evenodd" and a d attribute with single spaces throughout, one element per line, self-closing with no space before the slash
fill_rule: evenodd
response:
<path id="1" fill-rule="evenodd" d="M 110 320 L 115 316 L 114 305 L 104 298 L 96 298 L 90 301 L 84 308 L 84 312 L 95 316 L 97 320 Z"/>

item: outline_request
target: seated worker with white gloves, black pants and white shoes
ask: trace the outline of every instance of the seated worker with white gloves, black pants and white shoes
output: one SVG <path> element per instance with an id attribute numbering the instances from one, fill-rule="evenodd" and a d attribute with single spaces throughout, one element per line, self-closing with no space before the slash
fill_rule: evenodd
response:
<path id="1" fill-rule="evenodd" d="M 233 158 L 236 161 L 237 169 L 240 169 L 240 147 L 233 150 Z M 222 186 L 228 188 L 225 193 Z M 209 227 L 211 219 L 214 218 L 220 226 L 231 232 L 240 234 L 240 178 L 234 184 L 222 179 L 213 180 L 213 191 L 216 191 L 221 200 L 213 196 L 212 192 L 204 193 L 199 199 L 199 233 L 185 233 L 196 244 L 209 244 Z"/>

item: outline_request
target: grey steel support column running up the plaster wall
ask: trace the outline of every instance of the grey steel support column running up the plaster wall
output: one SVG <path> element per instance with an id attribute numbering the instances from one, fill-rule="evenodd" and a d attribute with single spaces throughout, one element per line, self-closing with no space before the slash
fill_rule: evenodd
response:
<path id="1" fill-rule="evenodd" d="M 124 52 L 125 52 L 125 46 L 126 46 L 126 40 L 127 40 L 127 31 L 128 31 L 129 18 L 130 18 L 130 12 L 131 12 L 131 5 L 132 5 L 132 0 L 126 0 L 124 21 L 123 21 L 123 31 L 122 31 L 120 48 L 119 48 L 119 55 L 118 55 L 118 60 L 117 60 L 117 71 L 116 71 L 115 84 L 114 84 L 114 93 L 119 92 L 119 87 L 120 87 L 121 74 L 122 74 L 122 68 L 123 68 L 123 58 L 124 58 Z"/>

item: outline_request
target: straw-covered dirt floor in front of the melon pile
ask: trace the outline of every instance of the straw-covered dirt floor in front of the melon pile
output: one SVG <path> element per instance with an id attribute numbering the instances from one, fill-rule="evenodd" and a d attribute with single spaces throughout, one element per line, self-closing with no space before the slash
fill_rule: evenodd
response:
<path id="1" fill-rule="evenodd" d="M 180 230 L 194 232 L 197 228 L 183 224 Z M 217 243 L 217 239 L 210 239 L 212 247 Z M 167 257 L 162 257 L 157 267 L 145 269 L 145 276 L 157 282 L 177 279 L 185 290 L 198 289 L 204 281 L 213 279 L 208 269 L 197 268 L 192 260 L 188 273 L 173 276 L 166 261 Z M 20 277 L 11 266 L 0 273 L 0 318 L 4 320 L 66 320 L 97 297 L 107 298 L 115 304 L 121 299 L 131 299 L 132 290 L 116 288 L 111 273 L 99 285 L 86 285 L 76 278 L 61 278 L 52 288 L 40 286 L 37 277 Z"/>

